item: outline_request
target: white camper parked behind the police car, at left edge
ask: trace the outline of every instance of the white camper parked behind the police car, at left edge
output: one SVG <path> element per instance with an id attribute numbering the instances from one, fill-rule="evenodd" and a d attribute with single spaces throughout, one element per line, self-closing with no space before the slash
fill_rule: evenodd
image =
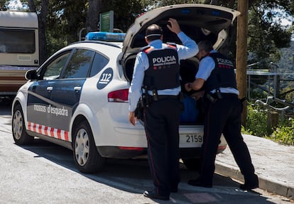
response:
<path id="1" fill-rule="evenodd" d="M 26 82 L 27 70 L 39 65 L 38 16 L 0 11 L 0 96 L 13 97 Z"/>

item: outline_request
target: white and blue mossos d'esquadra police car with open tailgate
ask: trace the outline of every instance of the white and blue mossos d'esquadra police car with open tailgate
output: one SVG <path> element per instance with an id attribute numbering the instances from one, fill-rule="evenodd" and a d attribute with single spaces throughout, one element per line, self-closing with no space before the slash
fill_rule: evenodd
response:
<path id="1" fill-rule="evenodd" d="M 84 173 L 100 171 L 107 158 L 146 156 L 143 122 L 134 127 L 128 121 L 128 90 L 136 54 L 146 46 L 147 26 L 157 23 L 163 27 L 164 42 L 180 43 L 166 27 L 168 18 L 175 18 L 187 36 L 196 42 L 209 39 L 217 49 L 238 15 L 221 6 L 178 4 L 146 12 L 126 33 L 88 33 L 86 41 L 67 45 L 38 70 L 26 73 L 28 82 L 12 104 L 14 141 L 29 144 L 37 137 L 72 149 L 77 168 Z M 181 65 L 182 77 L 193 78 L 197 58 Z M 200 115 L 197 121 L 180 125 L 181 159 L 188 168 L 194 168 L 200 157 L 202 124 Z M 222 139 L 219 152 L 226 146 Z"/>

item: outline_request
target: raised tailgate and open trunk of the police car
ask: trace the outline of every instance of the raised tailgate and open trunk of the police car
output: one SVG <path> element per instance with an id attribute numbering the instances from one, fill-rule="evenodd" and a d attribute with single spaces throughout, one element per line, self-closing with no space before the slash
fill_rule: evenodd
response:
<path id="1" fill-rule="evenodd" d="M 145 31 L 151 24 L 156 23 L 163 28 L 163 43 L 181 44 L 178 36 L 166 26 L 168 18 L 175 18 L 181 30 L 196 43 L 209 40 L 214 49 L 218 50 L 227 39 L 229 26 L 239 14 L 239 11 L 210 4 L 177 4 L 153 9 L 139 16 L 126 32 L 123 43 L 122 63 L 126 79 L 131 81 L 136 54 L 147 45 Z M 183 82 L 192 82 L 195 79 L 198 64 L 196 56 L 181 60 L 180 76 Z"/>

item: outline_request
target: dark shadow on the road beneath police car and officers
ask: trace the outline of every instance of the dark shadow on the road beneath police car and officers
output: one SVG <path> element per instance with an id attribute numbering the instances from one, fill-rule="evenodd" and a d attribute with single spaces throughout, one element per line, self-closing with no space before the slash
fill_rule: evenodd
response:
<path id="1" fill-rule="evenodd" d="M 48 141 L 35 139 L 31 145 L 21 146 L 21 148 L 33 152 L 49 161 L 56 163 L 70 171 L 77 171 L 73 161 L 72 151 L 64 147 L 52 144 Z M 258 199 L 258 203 L 271 204 L 266 198 L 259 196 L 258 193 L 244 192 L 239 190 L 239 183 L 233 181 L 231 178 L 214 175 L 214 188 L 197 188 L 188 186 L 187 181 L 198 176 L 197 171 L 190 171 L 185 168 L 183 163 L 180 163 L 181 183 L 178 193 L 172 193 L 175 199 L 180 199 L 184 203 L 197 203 L 191 200 L 197 200 L 199 196 L 203 203 L 251 203 L 251 199 Z M 139 160 L 123 160 L 123 159 L 107 159 L 104 168 L 99 173 L 80 175 L 104 183 L 107 186 L 119 190 L 125 190 L 129 193 L 143 193 L 144 190 L 149 190 L 153 187 L 153 181 L 150 176 L 148 162 L 146 159 Z M 232 197 L 234 198 L 232 201 Z M 231 200 L 230 200 L 231 199 Z M 237 202 L 236 200 L 244 200 Z M 198 199 L 199 200 L 199 199 Z M 209 201 L 210 200 L 210 201 Z M 229 200 L 229 201 L 228 201 Z M 157 200 L 156 200 L 157 201 Z M 246 203 L 245 202 L 245 203 Z M 165 203 L 165 202 L 161 202 Z M 202 202 L 201 202 L 202 203 Z"/>

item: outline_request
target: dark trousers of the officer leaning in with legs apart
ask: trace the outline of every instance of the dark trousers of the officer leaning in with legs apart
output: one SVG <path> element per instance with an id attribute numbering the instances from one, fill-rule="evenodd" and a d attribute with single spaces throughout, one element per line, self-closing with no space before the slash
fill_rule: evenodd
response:
<path id="1" fill-rule="evenodd" d="M 237 95 L 222 94 L 217 102 L 207 102 L 205 108 L 204 141 L 202 144 L 202 183 L 212 184 L 214 161 L 222 133 L 234 159 L 244 175 L 245 182 L 254 176 L 249 149 L 241 136 L 242 104 Z"/>

